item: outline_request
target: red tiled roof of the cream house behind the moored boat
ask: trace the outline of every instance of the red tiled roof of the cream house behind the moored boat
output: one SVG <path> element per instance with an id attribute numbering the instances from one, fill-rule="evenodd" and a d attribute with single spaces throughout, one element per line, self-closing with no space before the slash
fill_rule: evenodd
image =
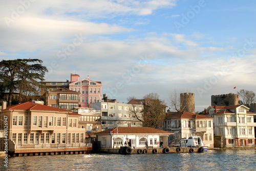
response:
<path id="1" fill-rule="evenodd" d="M 204 116 L 196 113 L 190 113 L 186 111 L 166 114 L 167 118 L 189 118 L 189 119 L 211 119 L 213 117 Z"/>

